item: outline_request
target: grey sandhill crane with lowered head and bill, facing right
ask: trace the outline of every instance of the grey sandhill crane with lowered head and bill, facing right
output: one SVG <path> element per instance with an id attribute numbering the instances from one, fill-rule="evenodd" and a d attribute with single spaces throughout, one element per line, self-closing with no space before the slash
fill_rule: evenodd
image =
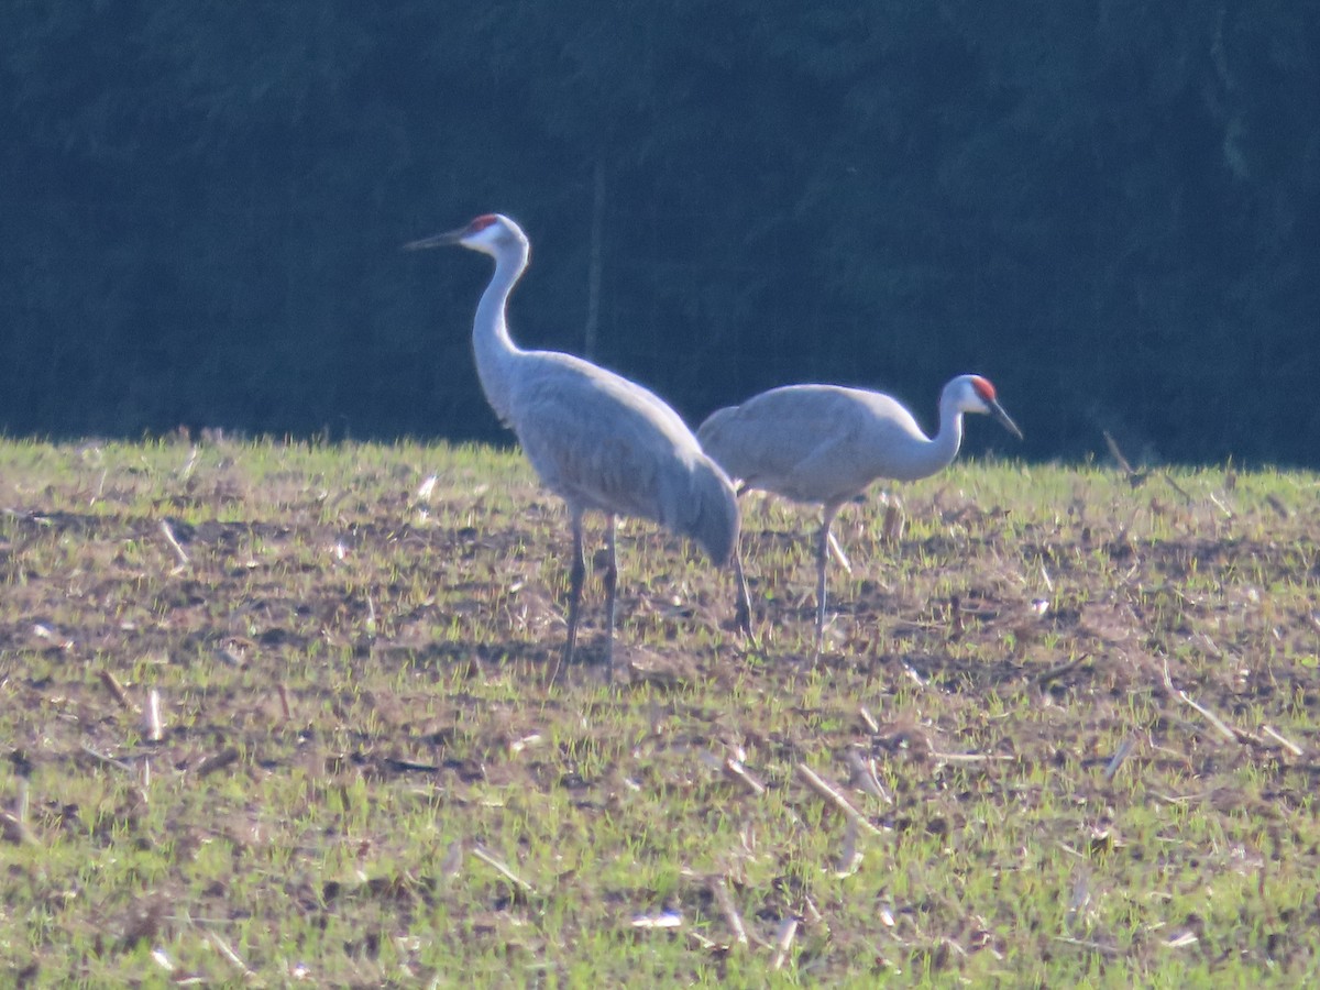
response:
<path id="1" fill-rule="evenodd" d="M 697 429 L 702 449 L 741 482 L 739 494 L 756 488 L 824 507 L 816 541 L 817 652 L 825 631 L 825 562 L 834 516 L 876 478 L 915 480 L 946 467 L 962 444 L 964 413 L 990 413 L 1022 440 L 994 385 L 979 375 L 960 375 L 944 387 L 933 438 L 892 396 L 841 385 L 772 388 L 715 411 Z M 734 564 L 738 624 L 750 631 L 741 548 Z"/>

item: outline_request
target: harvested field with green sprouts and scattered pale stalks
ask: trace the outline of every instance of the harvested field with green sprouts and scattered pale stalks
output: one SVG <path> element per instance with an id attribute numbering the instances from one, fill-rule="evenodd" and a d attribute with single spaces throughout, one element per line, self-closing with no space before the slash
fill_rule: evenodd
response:
<path id="1" fill-rule="evenodd" d="M 965 463 L 620 535 L 564 635 L 516 453 L 0 445 L 28 986 L 1302 985 L 1320 479 Z"/>

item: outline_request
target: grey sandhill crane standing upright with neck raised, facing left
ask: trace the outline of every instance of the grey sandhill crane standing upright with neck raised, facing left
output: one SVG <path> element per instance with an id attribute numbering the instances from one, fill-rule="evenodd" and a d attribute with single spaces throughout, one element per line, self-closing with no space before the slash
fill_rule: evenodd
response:
<path id="1" fill-rule="evenodd" d="M 486 214 L 466 227 L 414 240 L 420 249 L 459 244 L 495 259 L 495 275 L 477 304 L 477 374 L 495 413 L 512 426 L 548 488 L 568 504 L 573 528 L 568 643 L 573 661 L 586 558 L 582 513 L 606 516 L 606 660 L 612 672 L 618 558 L 616 516 L 642 516 L 696 540 L 717 565 L 738 541 L 733 483 L 706 457 L 686 424 L 642 385 L 572 354 L 525 351 L 508 333 L 506 305 L 527 268 L 527 235 L 508 216 Z M 553 680 L 558 673 L 558 665 Z"/>

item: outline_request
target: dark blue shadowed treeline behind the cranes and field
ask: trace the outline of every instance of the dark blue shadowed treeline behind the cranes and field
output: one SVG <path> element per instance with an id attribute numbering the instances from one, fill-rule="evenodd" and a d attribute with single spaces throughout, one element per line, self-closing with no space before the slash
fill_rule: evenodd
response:
<path id="1" fill-rule="evenodd" d="M 499 210 L 520 341 L 689 418 L 979 371 L 973 447 L 1320 466 L 1313 3 L 12 3 L 0 125 L 11 434 L 495 438 L 487 263 L 399 248 Z"/>

